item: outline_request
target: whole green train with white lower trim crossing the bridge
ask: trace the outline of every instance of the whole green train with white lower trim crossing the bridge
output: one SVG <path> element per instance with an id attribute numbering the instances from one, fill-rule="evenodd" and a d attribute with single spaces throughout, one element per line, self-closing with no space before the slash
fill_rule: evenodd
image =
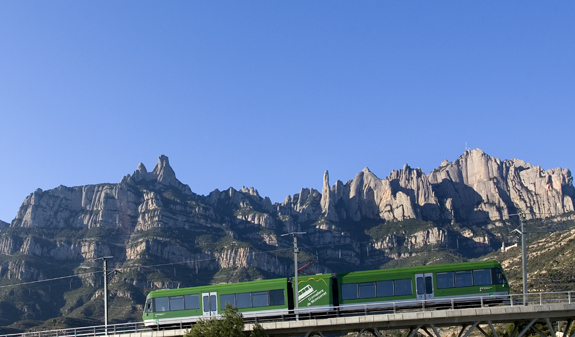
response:
<path id="1" fill-rule="evenodd" d="M 345 313 L 358 308 L 451 303 L 470 297 L 504 299 L 509 284 L 497 261 L 367 270 L 298 277 L 300 313 Z M 155 290 L 148 294 L 147 326 L 218 317 L 226 303 L 245 318 L 293 314 L 291 278 Z"/>

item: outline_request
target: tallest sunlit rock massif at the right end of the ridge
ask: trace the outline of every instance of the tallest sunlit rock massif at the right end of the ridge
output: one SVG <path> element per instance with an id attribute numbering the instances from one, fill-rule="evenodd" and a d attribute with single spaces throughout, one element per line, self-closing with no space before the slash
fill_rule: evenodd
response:
<path id="1" fill-rule="evenodd" d="M 476 222 L 527 219 L 573 211 L 573 178 L 568 169 L 549 169 L 522 160 L 501 161 L 479 149 L 468 150 L 428 175 L 440 203 L 458 219 Z M 449 207 L 447 204 L 449 203 Z"/>

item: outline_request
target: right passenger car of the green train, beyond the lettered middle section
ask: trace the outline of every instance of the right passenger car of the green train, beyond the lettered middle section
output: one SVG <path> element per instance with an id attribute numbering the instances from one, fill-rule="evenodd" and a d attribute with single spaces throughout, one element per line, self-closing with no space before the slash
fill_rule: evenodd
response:
<path id="1" fill-rule="evenodd" d="M 359 304 L 375 307 L 389 302 L 401 306 L 418 300 L 433 304 L 479 296 L 497 299 L 509 294 L 496 261 L 342 273 L 337 275 L 337 283 L 340 311 Z"/>

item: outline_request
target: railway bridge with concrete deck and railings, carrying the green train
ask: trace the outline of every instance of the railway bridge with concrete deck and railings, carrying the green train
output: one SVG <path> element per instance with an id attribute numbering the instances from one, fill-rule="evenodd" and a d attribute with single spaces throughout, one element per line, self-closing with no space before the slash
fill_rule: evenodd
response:
<path id="1" fill-rule="evenodd" d="M 424 301 L 410 307 L 373 308 L 358 306 L 353 315 L 340 317 L 306 316 L 299 320 L 290 317 L 285 320 L 259 322 L 270 337 L 327 337 L 353 333 L 353 336 L 382 337 L 389 331 L 402 331 L 403 337 L 417 334 L 427 337 L 481 336 L 503 337 L 496 327 L 511 323 L 512 331 L 506 337 L 536 335 L 540 337 L 575 337 L 575 292 L 530 293 L 527 302 L 523 295 L 510 295 L 508 301 L 493 305 L 482 298 L 468 299 L 468 302 L 451 302 L 443 307 L 426 307 Z M 404 304 L 404 303 L 403 303 Z M 471 304 L 474 307 L 466 307 Z M 475 306 L 476 305 L 476 306 Z M 463 307 L 462 307 L 463 306 Z M 107 327 L 86 327 L 51 331 L 28 332 L 0 337 L 181 337 L 187 327 L 181 323 L 174 329 L 145 327 L 141 322 L 108 325 Z M 250 331 L 254 323 L 245 325 Z M 448 328 L 448 329 L 446 329 Z M 571 334 L 568 334 L 570 332 Z"/>

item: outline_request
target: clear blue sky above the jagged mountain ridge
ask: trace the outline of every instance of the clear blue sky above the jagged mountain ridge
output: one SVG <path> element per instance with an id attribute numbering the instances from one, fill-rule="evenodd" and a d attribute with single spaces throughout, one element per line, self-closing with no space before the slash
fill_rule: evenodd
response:
<path id="1" fill-rule="evenodd" d="M 0 2 L 0 219 L 170 158 L 280 202 L 469 148 L 575 168 L 575 1 Z"/>

